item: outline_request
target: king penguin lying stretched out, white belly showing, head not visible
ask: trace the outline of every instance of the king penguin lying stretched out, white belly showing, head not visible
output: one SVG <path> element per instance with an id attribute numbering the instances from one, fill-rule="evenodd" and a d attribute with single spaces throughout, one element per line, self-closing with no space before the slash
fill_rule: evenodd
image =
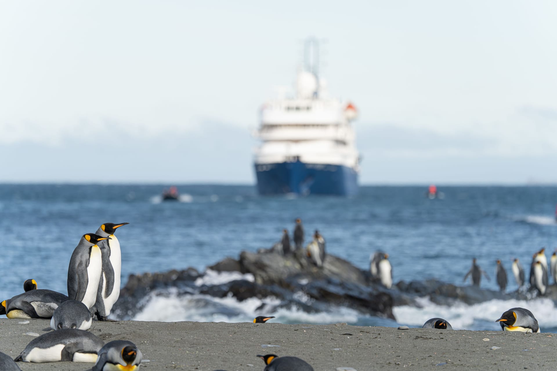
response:
<path id="1" fill-rule="evenodd" d="M 88 331 L 61 329 L 31 340 L 16 362 L 95 362 L 102 348 L 101 339 Z"/>

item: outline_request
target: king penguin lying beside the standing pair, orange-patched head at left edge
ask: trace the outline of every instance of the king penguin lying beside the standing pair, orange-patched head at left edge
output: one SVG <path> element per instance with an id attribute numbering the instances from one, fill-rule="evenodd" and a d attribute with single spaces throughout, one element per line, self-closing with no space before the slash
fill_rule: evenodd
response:
<path id="1" fill-rule="evenodd" d="M 66 295 L 56 291 L 45 289 L 30 290 L 2 301 L 0 314 L 6 314 L 11 319 L 50 319 L 58 305 L 66 300 L 68 300 Z"/>

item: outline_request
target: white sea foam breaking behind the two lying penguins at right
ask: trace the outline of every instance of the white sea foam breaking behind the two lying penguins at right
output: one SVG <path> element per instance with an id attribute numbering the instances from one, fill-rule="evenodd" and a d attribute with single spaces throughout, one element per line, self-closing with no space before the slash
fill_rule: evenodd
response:
<path id="1" fill-rule="evenodd" d="M 515 307 L 529 309 L 538 319 L 542 331 L 544 328 L 557 327 L 557 308 L 550 299 L 535 300 L 489 300 L 483 303 L 467 305 L 457 303 L 452 306 L 438 305 L 427 298 L 418 299 L 416 306 L 395 306 L 393 314 L 398 323 L 421 327 L 428 319 L 439 317 L 451 323 L 458 330 L 498 330 L 495 322 L 504 311 Z"/>

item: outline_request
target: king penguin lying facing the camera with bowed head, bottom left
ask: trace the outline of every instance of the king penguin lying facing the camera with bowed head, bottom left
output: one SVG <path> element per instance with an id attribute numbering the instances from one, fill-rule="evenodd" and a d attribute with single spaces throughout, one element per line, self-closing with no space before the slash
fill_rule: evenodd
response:
<path id="1" fill-rule="evenodd" d="M 139 368 L 142 358 L 141 350 L 134 343 L 113 340 L 99 350 L 99 357 L 91 371 L 134 371 Z"/>

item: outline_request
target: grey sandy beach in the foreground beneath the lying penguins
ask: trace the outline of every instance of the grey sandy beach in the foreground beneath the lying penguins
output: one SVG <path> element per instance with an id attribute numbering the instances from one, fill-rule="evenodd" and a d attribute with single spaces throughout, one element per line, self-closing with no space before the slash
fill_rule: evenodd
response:
<path id="1" fill-rule="evenodd" d="M 0 350 L 13 358 L 48 320 L 0 320 Z M 358 327 L 346 324 L 94 322 L 91 332 L 105 342 L 131 340 L 143 352 L 145 370 L 261 370 L 257 354 L 294 355 L 316 371 L 412 367 L 414 370 L 524 370 L 554 367 L 556 336 L 466 330 Z M 488 339 L 488 340 L 486 340 Z M 278 345 L 278 347 L 267 347 Z M 500 349 L 491 350 L 491 347 Z M 85 363 L 19 362 L 22 370 L 85 370 Z"/>

